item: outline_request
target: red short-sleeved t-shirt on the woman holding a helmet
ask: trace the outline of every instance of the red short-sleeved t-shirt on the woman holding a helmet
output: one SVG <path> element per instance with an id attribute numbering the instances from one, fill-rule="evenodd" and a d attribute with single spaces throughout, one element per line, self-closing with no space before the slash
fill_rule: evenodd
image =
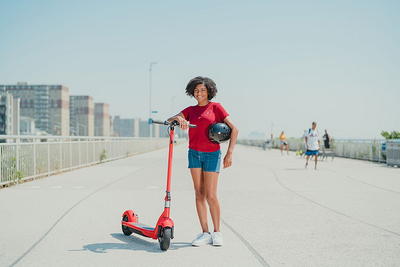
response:
<path id="1" fill-rule="evenodd" d="M 201 152 L 219 150 L 219 144 L 208 138 L 208 128 L 211 124 L 223 122 L 229 116 L 220 103 L 208 102 L 205 106 L 190 106 L 181 111 L 185 119 L 196 128 L 189 128 L 189 148 Z"/>

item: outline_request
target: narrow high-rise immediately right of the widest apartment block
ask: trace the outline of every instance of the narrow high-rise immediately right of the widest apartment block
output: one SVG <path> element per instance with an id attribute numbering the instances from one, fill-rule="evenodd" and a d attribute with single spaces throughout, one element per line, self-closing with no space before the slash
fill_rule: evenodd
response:
<path id="1" fill-rule="evenodd" d="M 93 98 L 87 95 L 69 97 L 70 134 L 78 136 L 94 135 Z"/>

